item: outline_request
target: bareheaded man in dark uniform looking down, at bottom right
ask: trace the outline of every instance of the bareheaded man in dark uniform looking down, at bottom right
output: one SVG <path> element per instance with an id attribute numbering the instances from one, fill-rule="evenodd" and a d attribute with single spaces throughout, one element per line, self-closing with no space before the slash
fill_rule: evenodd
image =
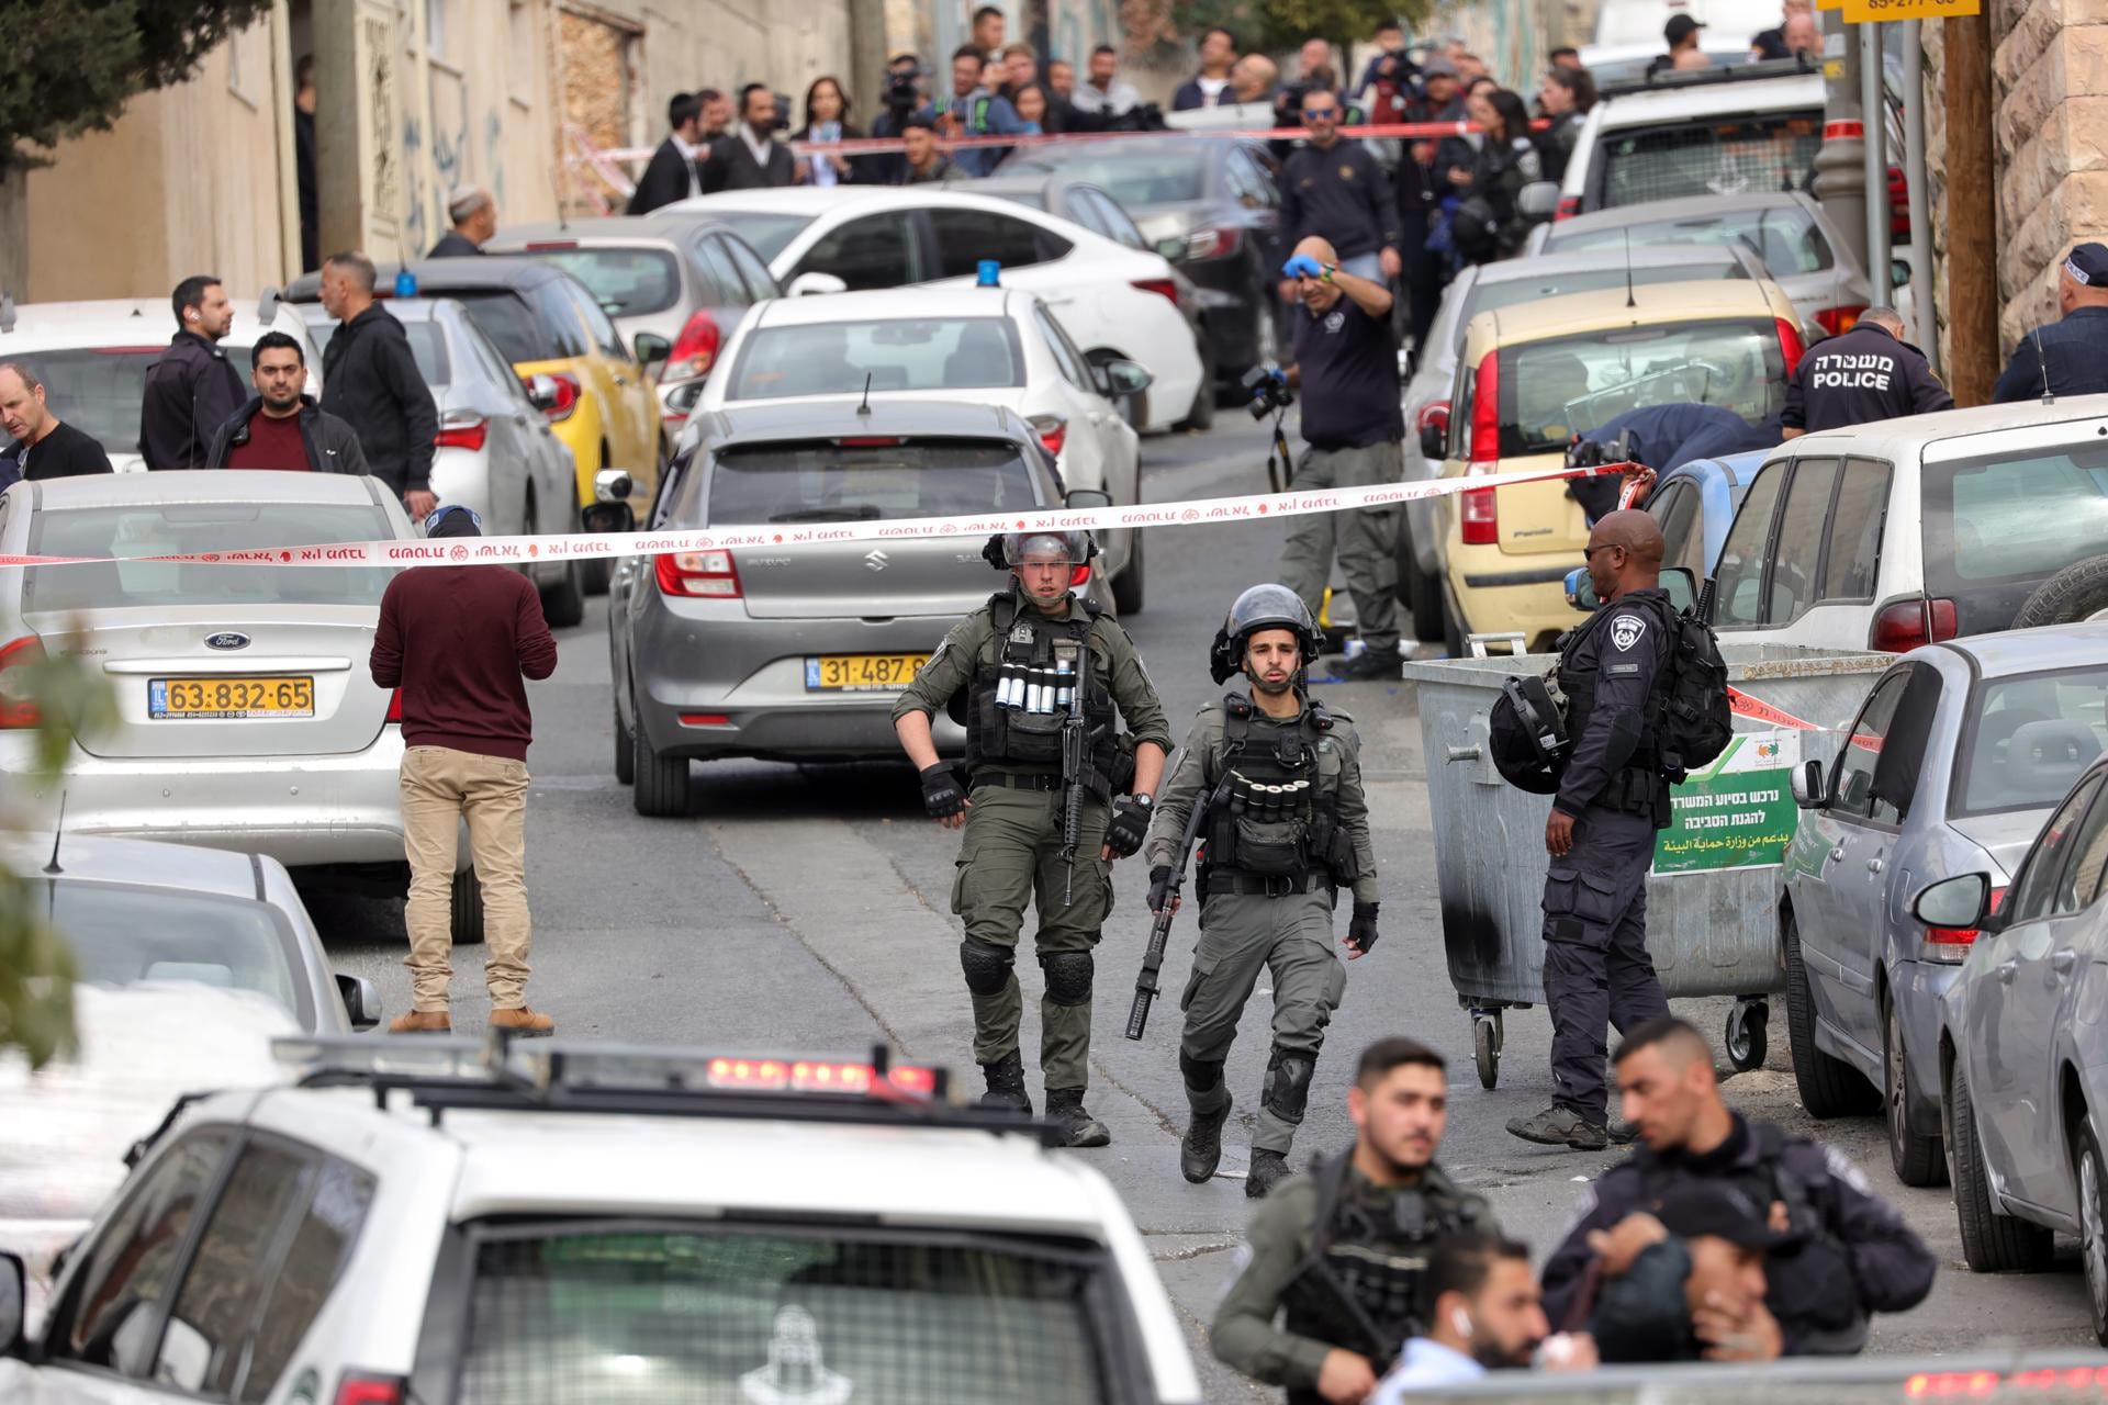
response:
<path id="1" fill-rule="evenodd" d="M 1581 1192 L 1566 1241 L 1545 1264 L 1545 1317 L 1564 1323 L 1600 1277 L 1606 1241 L 1634 1213 L 1657 1213 L 1680 1184 L 1733 1186 L 1767 1209 L 1764 1302 L 1788 1357 L 1849 1357 L 1872 1312 L 1906 1312 L 1933 1289 L 1937 1262 L 1844 1154 L 1720 1097 L 1712 1047 L 1682 1020 L 1634 1028 L 1617 1049 L 1617 1091 L 1644 1146 Z"/>

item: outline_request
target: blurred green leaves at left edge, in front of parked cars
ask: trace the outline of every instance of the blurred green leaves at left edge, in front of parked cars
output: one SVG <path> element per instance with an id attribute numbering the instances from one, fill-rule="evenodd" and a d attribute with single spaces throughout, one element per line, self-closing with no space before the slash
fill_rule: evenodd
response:
<path id="1" fill-rule="evenodd" d="M 8 691 L 36 699 L 36 786 L 61 786 L 74 733 L 114 718 L 105 682 L 74 657 L 11 668 Z M 17 777 L 17 786 L 30 777 Z M 46 923 L 32 874 L 0 868 L 0 1049 L 19 1047 L 30 1068 L 74 1049 L 74 952 Z"/>

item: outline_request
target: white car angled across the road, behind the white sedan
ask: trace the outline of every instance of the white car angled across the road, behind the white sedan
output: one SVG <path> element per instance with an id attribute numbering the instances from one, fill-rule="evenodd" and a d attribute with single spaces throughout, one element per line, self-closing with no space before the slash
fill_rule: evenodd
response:
<path id="1" fill-rule="evenodd" d="M 932 185 L 734 190 L 672 209 L 715 215 L 793 295 L 841 280 L 850 291 L 909 284 L 974 286 L 982 261 L 1006 289 L 1037 293 L 1092 362 L 1136 360 L 1155 383 L 1140 396 L 1136 430 L 1183 421 L 1206 381 L 1178 280 L 1159 253 L 1128 249 L 1084 225 L 1014 200 Z M 799 278 L 826 274 L 824 282 Z"/>

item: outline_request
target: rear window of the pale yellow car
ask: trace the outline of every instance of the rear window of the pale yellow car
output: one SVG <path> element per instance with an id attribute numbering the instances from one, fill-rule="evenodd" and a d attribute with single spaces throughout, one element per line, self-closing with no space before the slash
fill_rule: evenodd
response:
<path id="1" fill-rule="evenodd" d="M 1771 322 L 1663 322 L 1524 341 L 1499 356 L 1503 459 L 1562 453 L 1575 434 L 1651 404 L 1718 404 L 1754 423 L 1785 400 Z"/>

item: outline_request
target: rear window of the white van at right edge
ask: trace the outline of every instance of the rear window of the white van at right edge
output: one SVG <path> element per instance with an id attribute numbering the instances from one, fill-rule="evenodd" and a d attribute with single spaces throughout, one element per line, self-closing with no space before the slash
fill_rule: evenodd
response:
<path id="1" fill-rule="evenodd" d="M 2028 594 L 2108 539 L 2108 444 L 1927 463 L 1918 478 L 1925 594 L 1963 634 L 2011 628 Z"/>

